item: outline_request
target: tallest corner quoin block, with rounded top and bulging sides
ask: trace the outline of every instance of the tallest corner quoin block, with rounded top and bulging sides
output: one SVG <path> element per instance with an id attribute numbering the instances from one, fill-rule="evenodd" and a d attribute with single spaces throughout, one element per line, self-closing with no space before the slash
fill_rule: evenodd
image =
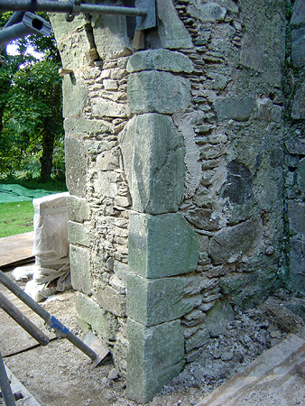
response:
<path id="1" fill-rule="evenodd" d="M 168 115 L 138 115 L 120 137 L 134 210 L 176 211 L 184 192 L 184 146 Z"/>

